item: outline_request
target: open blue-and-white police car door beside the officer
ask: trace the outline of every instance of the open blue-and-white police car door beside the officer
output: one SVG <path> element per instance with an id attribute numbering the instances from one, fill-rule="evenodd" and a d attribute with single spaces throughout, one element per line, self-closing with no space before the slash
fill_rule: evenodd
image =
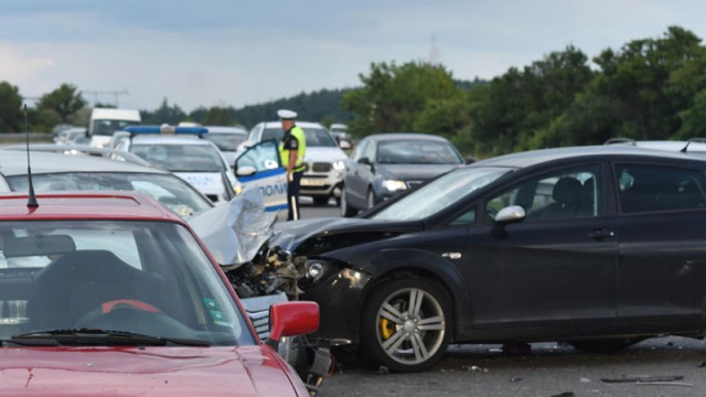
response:
<path id="1" fill-rule="evenodd" d="M 235 160 L 235 174 L 244 189 L 256 186 L 266 211 L 287 210 L 287 172 L 276 141 L 259 142 Z"/>

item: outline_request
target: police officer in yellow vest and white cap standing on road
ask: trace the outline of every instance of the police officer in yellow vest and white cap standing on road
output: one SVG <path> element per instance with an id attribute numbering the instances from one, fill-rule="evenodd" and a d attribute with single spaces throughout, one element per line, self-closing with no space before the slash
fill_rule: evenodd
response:
<path id="1" fill-rule="evenodd" d="M 297 221 L 300 218 L 299 186 L 306 168 L 307 140 L 304 131 L 295 125 L 295 118 L 297 118 L 295 111 L 281 109 L 277 111 L 277 116 L 281 119 L 285 130 L 282 141 L 279 143 L 279 154 L 287 170 L 287 203 L 289 204 L 287 221 Z"/>

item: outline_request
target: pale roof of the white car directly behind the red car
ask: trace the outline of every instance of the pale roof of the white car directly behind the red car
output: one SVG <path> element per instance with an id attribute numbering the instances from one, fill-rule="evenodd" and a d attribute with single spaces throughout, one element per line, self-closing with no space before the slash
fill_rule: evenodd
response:
<path id="1" fill-rule="evenodd" d="M 148 165 L 82 154 L 61 154 L 33 151 L 30 154 L 30 163 L 32 167 L 32 173 L 36 174 L 83 171 L 169 174 L 168 171 Z M 2 150 L 0 152 L 0 174 L 7 176 L 25 175 L 26 152 Z"/>

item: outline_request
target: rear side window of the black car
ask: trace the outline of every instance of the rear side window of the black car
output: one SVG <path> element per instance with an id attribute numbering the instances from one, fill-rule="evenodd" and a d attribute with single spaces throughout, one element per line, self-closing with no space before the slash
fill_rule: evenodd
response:
<path id="1" fill-rule="evenodd" d="M 704 173 L 676 167 L 620 164 L 616 167 L 623 213 L 706 207 Z"/>

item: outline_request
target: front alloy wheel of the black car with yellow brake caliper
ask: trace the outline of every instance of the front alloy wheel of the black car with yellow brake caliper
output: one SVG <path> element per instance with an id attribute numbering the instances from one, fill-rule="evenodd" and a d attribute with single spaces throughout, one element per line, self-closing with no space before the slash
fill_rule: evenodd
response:
<path id="1" fill-rule="evenodd" d="M 361 318 L 361 352 L 373 365 L 394 372 L 434 366 L 451 330 L 450 300 L 438 285 L 398 279 L 372 292 Z"/>

